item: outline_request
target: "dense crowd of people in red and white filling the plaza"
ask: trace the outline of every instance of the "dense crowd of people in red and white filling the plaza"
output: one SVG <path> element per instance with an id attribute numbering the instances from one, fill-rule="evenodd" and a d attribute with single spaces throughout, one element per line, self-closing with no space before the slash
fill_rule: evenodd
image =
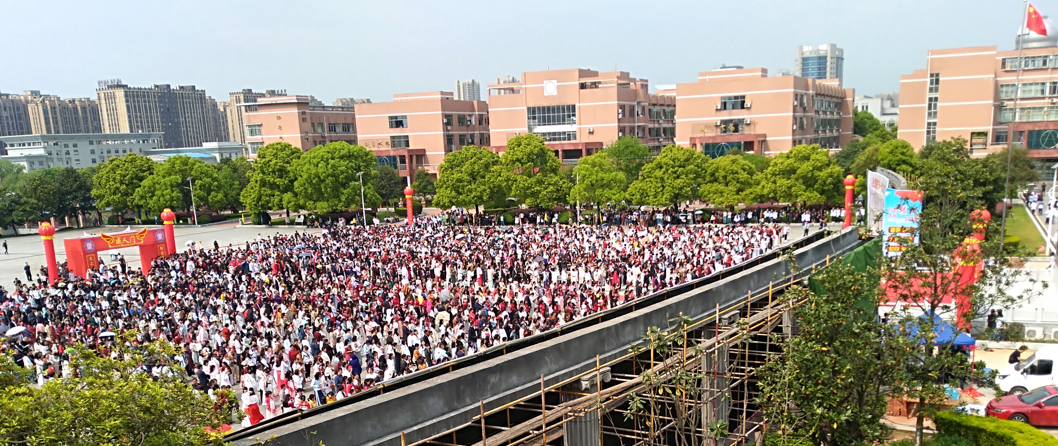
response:
<path id="1" fill-rule="evenodd" d="M 124 261 L 88 278 L 60 266 L 55 284 L 0 287 L 0 329 L 25 328 L 10 348 L 40 383 L 71 374 L 73 342 L 104 355 L 108 333 L 175 342 L 189 383 L 211 395 L 239 389 L 255 424 L 709 276 L 790 229 L 621 218 L 477 226 L 462 216 L 193 245 L 146 274 Z"/>

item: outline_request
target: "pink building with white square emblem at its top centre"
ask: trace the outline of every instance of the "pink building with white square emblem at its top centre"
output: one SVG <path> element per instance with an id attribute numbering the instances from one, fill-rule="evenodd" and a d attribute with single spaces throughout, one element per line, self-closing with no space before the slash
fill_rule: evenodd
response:
<path id="1" fill-rule="evenodd" d="M 650 94 L 649 87 L 623 71 L 582 69 L 522 73 L 521 82 L 493 83 L 493 149 L 504 151 L 511 137 L 534 133 L 566 164 L 625 135 L 660 151 L 676 136 L 676 99 Z"/>

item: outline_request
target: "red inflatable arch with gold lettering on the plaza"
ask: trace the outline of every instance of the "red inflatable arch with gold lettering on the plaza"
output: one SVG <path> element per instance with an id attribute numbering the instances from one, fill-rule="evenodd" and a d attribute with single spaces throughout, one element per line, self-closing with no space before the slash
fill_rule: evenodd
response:
<path id="1" fill-rule="evenodd" d="M 140 246 L 140 264 L 143 266 L 143 274 L 147 274 L 150 271 L 151 260 L 172 254 L 166 247 L 165 241 L 164 229 L 145 227 L 140 230 L 71 238 L 63 240 L 62 243 L 66 245 L 67 264 L 70 271 L 87 278 L 89 270 L 99 267 L 99 252 L 131 246 Z"/>

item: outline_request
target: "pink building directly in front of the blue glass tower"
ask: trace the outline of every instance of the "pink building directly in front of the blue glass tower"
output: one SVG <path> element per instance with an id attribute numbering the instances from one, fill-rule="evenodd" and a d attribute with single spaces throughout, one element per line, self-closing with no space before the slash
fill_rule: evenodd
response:
<path id="1" fill-rule="evenodd" d="M 769 77 L 763 68 L 701 72 L 697 81 L 676 85 L 676 144 L 713 157 L 801 144 L 837 150 L 852 137 L 854 93 L 838 79 Z"/>

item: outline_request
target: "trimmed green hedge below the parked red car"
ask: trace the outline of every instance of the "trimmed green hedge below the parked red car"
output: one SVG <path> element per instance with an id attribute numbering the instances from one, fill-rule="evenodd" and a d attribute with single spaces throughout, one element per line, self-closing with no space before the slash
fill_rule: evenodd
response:
<path id="1" fill-rule="evenodd" d="M 972 440 L 979 446 L 1058 446 L 1058 439 L 1024 423 L 995 416 L 938 412 L 936 430 Z"/>

